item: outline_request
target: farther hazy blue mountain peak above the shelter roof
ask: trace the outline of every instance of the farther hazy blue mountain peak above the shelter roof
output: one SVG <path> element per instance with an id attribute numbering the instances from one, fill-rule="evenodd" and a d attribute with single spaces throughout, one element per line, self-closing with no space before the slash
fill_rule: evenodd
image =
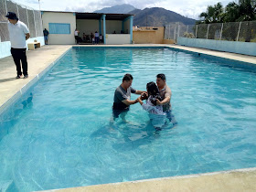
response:
<path id="1" fill-rule="evenodd" d="M 127 14 L 136 9 L 133 5 L 123 4 L 114 5 L 111 7 L 105 7 L 101 10 L 96 10 L 93 13 L 104 13 L 104 14 Z"/>

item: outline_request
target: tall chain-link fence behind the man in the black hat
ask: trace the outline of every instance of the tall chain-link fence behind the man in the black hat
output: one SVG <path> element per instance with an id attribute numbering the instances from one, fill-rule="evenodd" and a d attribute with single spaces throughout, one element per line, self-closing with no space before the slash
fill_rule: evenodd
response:
<path id="1" fill-rule="evenodd" d="M 20 21 L 29 29 L 30 37 L 43 37 L 41 13 L 25 5 L 9 0 L 0 0 L 0 42 L 9 41 L 7 12 L 15 12 Z"/>

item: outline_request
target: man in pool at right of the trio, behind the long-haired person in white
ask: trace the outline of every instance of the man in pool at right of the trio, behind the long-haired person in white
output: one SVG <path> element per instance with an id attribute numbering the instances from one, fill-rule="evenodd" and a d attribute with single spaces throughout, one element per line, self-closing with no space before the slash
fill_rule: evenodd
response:
<path id="1" fill-rule="evenodd" d="M 166 84 L 165 74 L 161 73 L 156 75 L 156 84 L 160 93 L 160 96 L 163 98 L 163 101 L 156 99 L 156 105 L 163 105 L 163 112 L 166 113 L 166 117 L 171 123 L 176 124 L 175 115 L 172 114 L 172 105 L 171 97 L 172 91 Z"/>

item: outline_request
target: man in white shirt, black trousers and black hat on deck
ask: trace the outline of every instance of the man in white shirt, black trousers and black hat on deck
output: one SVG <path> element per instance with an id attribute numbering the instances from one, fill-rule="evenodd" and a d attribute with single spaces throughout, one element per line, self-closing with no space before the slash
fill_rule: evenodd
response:
<path id="1" fill-rule="evenodd" d="M 6 17 L 9 20 L 8 30 L 11 41 L 11 54 L 16 63 L 16 79 L 20 79 L 22 76 L 20 61 L 22 63 L 24 79 L 26 79 L 28 78 L 26 40 L 30 37 L 29 30 L 23 22 L 18 20 L 15 13 L 8 12 Z"/>

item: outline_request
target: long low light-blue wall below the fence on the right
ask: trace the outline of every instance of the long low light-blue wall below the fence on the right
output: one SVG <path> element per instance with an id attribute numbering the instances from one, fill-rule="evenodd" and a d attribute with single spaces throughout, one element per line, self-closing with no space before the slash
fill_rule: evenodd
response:
<path id="1" fill-rule="evenodd" d="M 250 42 L 178 37 L 177 44 L 194 48 L 208 48 L 212 50 L 256 56 L 256 43 Z"/>

